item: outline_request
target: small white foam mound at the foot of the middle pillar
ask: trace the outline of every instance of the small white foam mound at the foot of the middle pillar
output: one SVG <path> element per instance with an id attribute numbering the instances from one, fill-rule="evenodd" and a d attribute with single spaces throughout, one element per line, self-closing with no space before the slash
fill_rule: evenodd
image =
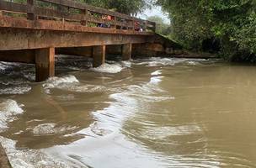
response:
<path id="1" fill-rule="evenodd" d="M 120 64 L 108 64 L 105 63 L 97 68 L 90 68 L 91 71 L 103 72 L 103 73 L 119 73 L 123 70 Z"/>

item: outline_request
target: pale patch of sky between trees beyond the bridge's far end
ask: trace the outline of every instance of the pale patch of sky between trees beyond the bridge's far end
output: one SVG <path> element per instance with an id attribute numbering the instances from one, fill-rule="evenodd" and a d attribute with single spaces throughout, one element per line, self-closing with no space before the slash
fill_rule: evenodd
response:
<path id="1" fill-rule="evenodd" d="M 139 18 L 147 19 L 150 16 L 159 16 L 163 18 L 164 22 L 170 24 L 170 19 L 167 13 L 163 13 L 161 7 L 152 7 L 152 9 L 146 9 L 143 13 L 138 14 Z"/>

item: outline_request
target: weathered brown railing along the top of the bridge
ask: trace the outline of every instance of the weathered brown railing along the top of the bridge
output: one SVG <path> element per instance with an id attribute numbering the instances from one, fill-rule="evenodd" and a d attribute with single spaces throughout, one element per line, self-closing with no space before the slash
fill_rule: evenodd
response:
<path id="1" fill-rule="evenodd" d="M 29 20 L 61 20 L 88 27 L 155 32 L 156 24 L 123 13 L 97 8 L 73 0 L 0 0 L 0 14 L 25 17 Z"/>

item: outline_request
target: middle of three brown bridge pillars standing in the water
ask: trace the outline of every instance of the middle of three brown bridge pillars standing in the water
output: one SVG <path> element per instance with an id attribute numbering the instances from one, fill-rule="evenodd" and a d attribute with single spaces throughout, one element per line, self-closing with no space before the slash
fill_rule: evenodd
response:
<path id="1" fill-rule="evenodd" d="M 104 64 L 106 57 L 106 45 L 93 46 L 93 67 Z"/>

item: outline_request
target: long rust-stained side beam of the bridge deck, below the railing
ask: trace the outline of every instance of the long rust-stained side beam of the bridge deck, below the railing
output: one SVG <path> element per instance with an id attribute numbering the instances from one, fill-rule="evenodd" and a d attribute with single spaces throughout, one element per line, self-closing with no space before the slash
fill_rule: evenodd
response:
<path id="1" fill-rule="evenodd" d="M 63 24 L 62 24 L 62 27 Z M 93 28 L 95 29 L 95 28 Z M 116 30 L 118 29 L 110 29 Z M 79 33 L 73 31 L 45 31 L 36 29 L 0 29 L 0 50 L 40 49 L 55 46 L 85 47 L 93 45 L 138 44 L 149 41 L 141 34 Z M 39 40 L 40 39 L 40 40 Z"/>

